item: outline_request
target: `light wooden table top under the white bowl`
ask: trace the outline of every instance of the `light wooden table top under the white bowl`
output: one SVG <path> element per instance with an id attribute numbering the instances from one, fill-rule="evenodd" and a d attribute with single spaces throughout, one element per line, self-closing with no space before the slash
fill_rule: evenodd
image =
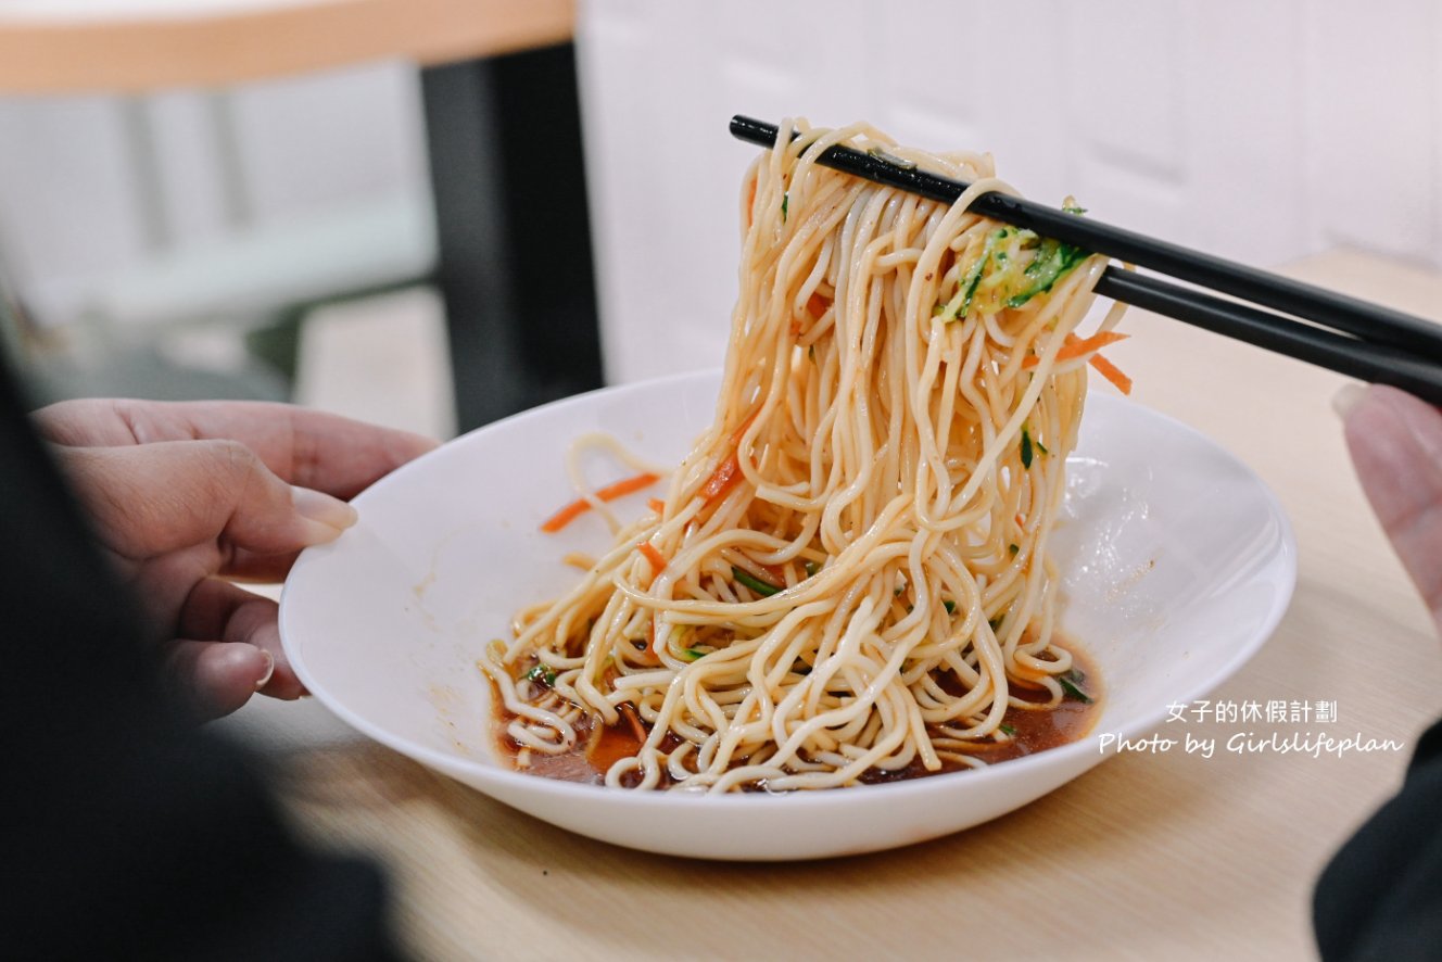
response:
<path id="1" fill-rule="evenodd" d="M 1337 252 L 1289 273 L 1442 319 L 1428 271 Z M 1442 649 L 1347 462 L 1343 378 L 1139 312 L 1126 327 L 1109 356 L 1135 400 L 1240 456 L 1296 528 L 1291 612 L 1214 698 L 1337 702 L 1328 725 L 1185 731 L 1361 733 L 1402 751 L 1128 754 L 968 832 L 809 864 L 626 851 L 366 743 L 281 760 L 294 821 L 386 865 L 425 958 L 1311 958 L 1314 880 L 1442 714 Z"/>

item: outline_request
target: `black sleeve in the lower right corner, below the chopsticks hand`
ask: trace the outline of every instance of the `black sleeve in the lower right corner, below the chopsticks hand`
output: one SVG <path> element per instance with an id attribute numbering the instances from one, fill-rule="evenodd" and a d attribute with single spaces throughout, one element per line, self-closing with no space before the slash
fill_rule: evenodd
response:
<path id="1" fill-rule="evenodd" d="M 1312 920 L 1324 959 L 1442 958 L 1442 721 L 1402 790 L 1322 873 Z"/>

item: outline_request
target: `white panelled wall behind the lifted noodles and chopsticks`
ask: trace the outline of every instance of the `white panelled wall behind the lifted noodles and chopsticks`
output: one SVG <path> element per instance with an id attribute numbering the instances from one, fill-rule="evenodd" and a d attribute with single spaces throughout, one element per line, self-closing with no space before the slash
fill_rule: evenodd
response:
<path id="1" fill-rule="evenodd" d="M 1028 196 L 1260 265 L 1442 265 L 1442 14 L 1426 0 L 583 0 L 611 381 L 718 365 L 735 112 L 991 150 Z"/>

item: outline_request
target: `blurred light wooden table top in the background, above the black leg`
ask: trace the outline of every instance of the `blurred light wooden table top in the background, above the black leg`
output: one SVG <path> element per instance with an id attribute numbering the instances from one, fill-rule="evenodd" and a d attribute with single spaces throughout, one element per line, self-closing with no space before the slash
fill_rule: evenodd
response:
<path id="1" fill-rule="evenodd" d="M 218 87 L 570 40 L 575 0 L 68 0 L 0 4 L 0 94 Z"/>

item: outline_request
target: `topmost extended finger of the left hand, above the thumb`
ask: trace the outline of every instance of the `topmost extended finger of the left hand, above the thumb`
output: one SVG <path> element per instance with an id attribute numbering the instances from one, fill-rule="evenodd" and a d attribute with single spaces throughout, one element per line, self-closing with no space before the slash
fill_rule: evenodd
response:
<path id="1" fill-rule="evenodd" d="M 63 401 L 35 414 L 42 436 L 76 447 L 235 440 L 301 487 L 353 498 L 435 441 L 288 404 Z"/>

